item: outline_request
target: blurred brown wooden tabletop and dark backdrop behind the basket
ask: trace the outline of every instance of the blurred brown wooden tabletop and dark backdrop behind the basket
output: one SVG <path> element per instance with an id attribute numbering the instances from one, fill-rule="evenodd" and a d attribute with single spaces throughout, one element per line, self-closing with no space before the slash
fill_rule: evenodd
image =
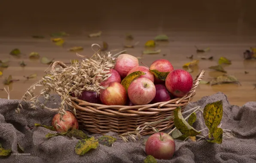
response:
<path id="1" fill-rule="evenodd" d="M 40 60 L 29 60 L 28 54 L 36 51 L 41 57 L 54 58 L 63 62 L 78 59 L 76 53 L 67 51 L 73 46 L 82 46 L 79 52 L 90 56 L 91 44 L 106 41 L 109 50 L 123 50 L 125 33 L 134 36 L 134 42 L 140 43 L 135 48 L 127 48 L 127 53 L 140 56 L 147 40 L 157 34 L 167 34 L 168 43 L 157 46 L 160 54 L 144 55 L 140 61 L 148 66 L 152 61 L 166 58 L 174 68 L 194 58 L 213 56 L 214 60 L 200 60 L 198 69 L 192 72 L 195 77 L 200 69 L 206 69 L 204 80 L 222 75 L 207 69 L 215 66 L 219 57 L 232 60 L 232 65 L 225 66 L 229 75 L 235 75 L 242 86 L 199 85 L 193 101 L 216 92 L 228 96 L 231 104 L 242 106 L 247 101 L 256 101 L 256 61 L 244 60 L 243 52 L 256 47 L 256 1 L 255 0 L 197 0 L 197 1 L 18 1 L 3 0 L 0 3 L 0 59 L 10 58 L 9 67 L 3 70 L 0 80 L 12 75 L 19 79 L 9 85 L 10 98 L 20 99 L 26 89 L 44 75 L 47 65 Z M 89 33 L 102 31 L 102 36 L 88 38 Z M 65 31 L 63 47 L 51 42 L 50 33 Z M 43 35 L 45 39 L 34 39 L 31 35 Z M 196 54 L 195 47 L 210 48 L 205 54 Z M 13 48 L 19 48 L 21 58 L 9 55 Z M 166 54 L 166 56 L 163 56 Z M 19 66 L 24 60 L 27 66 Z M 244 71 L 249 72 L 244 74 Z M 26 81 L 24 75 L 37 73 L 38 77 Z M 0 85 L 0 89 L 7 85 Z M 0 91 L 0 98 L 7 98 L 5 91 Z"/>

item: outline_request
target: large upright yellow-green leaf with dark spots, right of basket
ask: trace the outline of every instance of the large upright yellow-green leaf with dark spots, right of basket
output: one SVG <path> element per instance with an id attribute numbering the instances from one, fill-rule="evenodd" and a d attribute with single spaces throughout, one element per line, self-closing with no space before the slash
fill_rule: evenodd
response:
<path id="1" fill-rule="evenodd" d="M 204 123 L 209 130 L 209 138 L 211 138 L 212 134 L 217 130 L 222 119 L 222 114 L 222 100 L 209 103 L 204 107 Z"/>

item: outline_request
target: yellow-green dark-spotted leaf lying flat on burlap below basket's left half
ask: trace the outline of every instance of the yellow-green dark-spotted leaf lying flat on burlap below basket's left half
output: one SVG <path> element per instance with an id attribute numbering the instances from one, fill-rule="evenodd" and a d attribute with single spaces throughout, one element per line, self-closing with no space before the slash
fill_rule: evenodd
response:
<path id="1" fill-rule="evenodd" d="M 95 140 L 94 137 L 92 136 L 89 139 L 79 140 L 76 143 L 75 151 L 76 151 L 76 154 L 82 156 L 88 151 L 90 151 L 91 149 L 96 149 L 98 145 L 99 145 L 99 142 Z"/>

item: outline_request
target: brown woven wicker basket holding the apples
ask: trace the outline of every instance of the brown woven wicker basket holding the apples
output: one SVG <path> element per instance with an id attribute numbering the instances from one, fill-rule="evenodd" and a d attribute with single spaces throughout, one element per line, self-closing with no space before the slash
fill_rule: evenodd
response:
<path id="1" fill-rule="evenodd" d="M 79 127 L 91 133 L 105 134 L 112 131 L 122 134 L 135 131 L 137 127 L 143 127 L 146 122 L 168 118 L 173 115 L 174 109 L 179 106 L 183 112 L 195 96 L 195 89 L 203 78 L 204 73 L 205 71 L 201 70 L 197 75 L 193 82 L 193 87 L 188 94 L 167 102 L 137 106 L 107 106 L 73 99 L 71 102 L 76 109 Z M 164 132 L 174 126 L 173 118 L 150 126 Z M 151 127 L 146 127 L 140 132 L 140 135 L 150 135 L 153 133 Z"/>

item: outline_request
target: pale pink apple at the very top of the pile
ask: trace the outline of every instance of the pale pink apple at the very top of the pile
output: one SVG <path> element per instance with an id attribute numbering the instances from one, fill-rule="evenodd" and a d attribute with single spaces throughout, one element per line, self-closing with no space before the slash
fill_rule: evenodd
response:
<path id="1" fill-rule="evenodd" d="M 116 58 L 114 69 L 119 73 L 121 78 L 125 78 L 128 72 L 136 66 L 139 66 L 138 58 L 130 54 L 121 54 Z"/>

